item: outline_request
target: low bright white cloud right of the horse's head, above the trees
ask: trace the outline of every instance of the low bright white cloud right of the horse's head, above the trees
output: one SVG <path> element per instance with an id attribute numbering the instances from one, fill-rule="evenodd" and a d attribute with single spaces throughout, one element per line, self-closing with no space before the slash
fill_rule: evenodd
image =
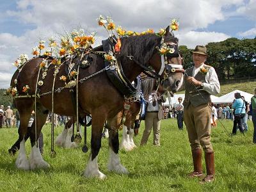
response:
<path id="1" fill-rule="evenodd" d="M 224 33 L 189 31 L 188 33 L 179 35 L 179 45 L 186 45 L 191 49 L 195 48 L 196 45 L 206 45 L 209 42 L 221 42 L 227 38 L 230 38 L 230 36 Z"/>

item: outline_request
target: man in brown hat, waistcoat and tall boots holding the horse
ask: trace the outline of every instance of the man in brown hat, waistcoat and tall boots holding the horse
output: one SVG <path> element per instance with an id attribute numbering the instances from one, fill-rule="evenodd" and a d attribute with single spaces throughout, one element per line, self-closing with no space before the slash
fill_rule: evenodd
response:
<path id="1" fill-rule="evenodd" d="M 184 122 L 188 130 L 189 143 L 192 150 L 194 171 L 189 177 L 201 177 L 202 150 L 205 154 L 207 175 L 202 182 L 214 180 L 214 151 L 211 144 L 211 108 L 210 95 L 220 93 L 220 83 L 213 67 L 205 65 L 207 50 L 197 45 L 193 51 L 195 66 L 185 73 Z"/>

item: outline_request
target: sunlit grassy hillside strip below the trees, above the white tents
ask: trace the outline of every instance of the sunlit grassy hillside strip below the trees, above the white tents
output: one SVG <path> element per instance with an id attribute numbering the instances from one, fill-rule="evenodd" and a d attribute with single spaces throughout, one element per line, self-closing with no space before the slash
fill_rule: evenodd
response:
<path id="1" fill-rule="evenodd" d="M 255 88 L 256 88 L 256 82 L 221 84 L 220 93 L 215 96 L 220 97 L 227 93 L 233 92 L 234 90 L 240 90 L 240 91 L 251 93 L 254 95 Z M 183 94 L 183 93 L 185 93 L 184 90 L 182 90 L 181 92 L 177 92 L 177 94 Z"/>

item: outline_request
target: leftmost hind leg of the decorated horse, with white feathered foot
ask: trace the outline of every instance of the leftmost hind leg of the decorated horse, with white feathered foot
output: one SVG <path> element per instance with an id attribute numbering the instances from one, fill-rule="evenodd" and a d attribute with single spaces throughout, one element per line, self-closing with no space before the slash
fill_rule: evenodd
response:
<path id="1" fill-rule="evenodd" d="M 25 141 L 28 138 L 28 121 L 31 116 L 31 111 L 33 109 L 33 100 L 19 100 L 16 102 L 17 109 L 20 113 L 20 127 L 19 127 L 19 140 L 16 142 L 17 145 L 20 144 L 19 155 L 15 161 L 16 167 L 22 170 L 29 170 L 29 163 L 26 156 Z M 20 141 L 20 143 L 19 143 Z"/>

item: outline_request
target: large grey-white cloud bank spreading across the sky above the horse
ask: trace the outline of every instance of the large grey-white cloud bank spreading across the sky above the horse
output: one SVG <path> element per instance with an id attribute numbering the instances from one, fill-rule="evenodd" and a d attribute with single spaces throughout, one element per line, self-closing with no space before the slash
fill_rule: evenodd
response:
<path id="1" fill-rule="evenodd" d="M 110 15 L 116 25 L 125 29 L 145 31 L 153 28 L 166 28 L 170 19 L 179 18 L 180 31 L 175 32 L 180 38 L 180 44 L 195 47 L 196 44 L 207 44 L 225 40 L 229 36 L 224 33 L 195 32 L 196 29 L 205 29 L 216 20 L 225 20 L 227 8 L 238 7 L 239 14 L 253 15 L 250 6 L 245 0 L 61 0 L 61 1 L 17 1 L 17 7 L 1 13 L 1 19 L 15 19 L 20 24 L 33 26 L 20 36 L 9 33 L 0 33 L 0 72 L 14 72 L 11 63 L 20 53 L 30 55 L 31 48 L 37 45 L 38 40 L 47 40 L 49 36 L 60 35 L 63 31 L 82 27 L 88 32 L 97 31 L 99 45 L 102 38 L 108 35 L 97 25 L 99 15 Z M 4 18 L 5 15 L 5 18 Z M 19 25 L 17 26 L 19 28 Z M 31 55 L 30 55 L 31 56 Z M 1 84 L 3 84 L 1 82 Z M 0 84 L 0 88 L 1 85 Z M 7 83 L 9 84 L 9 83 Z M 4 86 L 6 87 L 6 86 Z"/>

